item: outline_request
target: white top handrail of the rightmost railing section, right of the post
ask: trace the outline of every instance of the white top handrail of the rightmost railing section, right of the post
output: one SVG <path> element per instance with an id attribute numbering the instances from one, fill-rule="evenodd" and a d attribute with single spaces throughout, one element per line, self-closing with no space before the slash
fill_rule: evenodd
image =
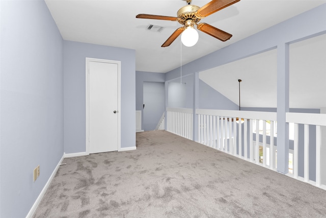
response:
<path id="1" fill-rule="evenodd" d="M 326 114 L 320 113 L 286 113 L 287 123 L 326 126 Z"/>

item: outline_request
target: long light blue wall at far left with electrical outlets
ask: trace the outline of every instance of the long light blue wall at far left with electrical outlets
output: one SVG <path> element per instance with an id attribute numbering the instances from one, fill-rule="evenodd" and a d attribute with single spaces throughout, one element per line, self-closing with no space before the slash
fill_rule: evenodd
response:
<path id="1" fill-rule="evenodd" d="M 0 216 L 25 217 L 63 156 L 63 39 L 44 1 L 0 8 Z"/>

